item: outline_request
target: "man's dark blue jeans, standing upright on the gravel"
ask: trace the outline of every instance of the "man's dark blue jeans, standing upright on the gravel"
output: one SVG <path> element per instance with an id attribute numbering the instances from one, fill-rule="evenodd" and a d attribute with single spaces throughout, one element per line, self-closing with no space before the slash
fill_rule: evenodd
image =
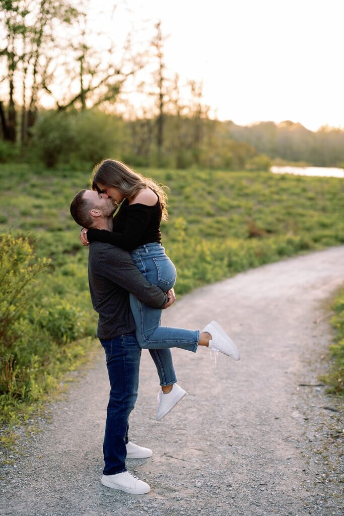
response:
<path id="1" fill-rule="evenodd" d="M 104 436 L 104 475 L 126 471 L 128 420 L 137 398 L 141 348 L 135 333 L 100 339 L 105 350 L 110 397 Z"/>

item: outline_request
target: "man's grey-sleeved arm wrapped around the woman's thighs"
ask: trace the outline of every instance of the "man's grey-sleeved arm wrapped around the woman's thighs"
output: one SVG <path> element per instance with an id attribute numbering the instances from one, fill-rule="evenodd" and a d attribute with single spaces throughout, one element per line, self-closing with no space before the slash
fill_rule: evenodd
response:
<path id="1" fill-rule="evenodd" d="M 144 278 L 127 251 L 109 245 L 98 258 L 99 273 L 134 294 L 143 303 L 152 308 L 162 308 L 169 301 L 161 288 Z"/>

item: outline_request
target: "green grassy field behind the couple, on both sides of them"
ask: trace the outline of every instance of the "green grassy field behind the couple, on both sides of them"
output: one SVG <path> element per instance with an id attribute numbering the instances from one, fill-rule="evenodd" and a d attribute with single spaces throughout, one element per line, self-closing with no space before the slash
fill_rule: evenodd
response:
<path id="1" fill-rule="evenodd" d="M 344 242 L 340 179 L 268 172 L 142 173 L 171 189 L 170 221 L 162 233 L 177 268 L 179 295 L 250 267 Z M 94 336 L 96 327 L 88 250 L 79 244 L 79 228 L 69 215 L 73 196 L 88 186 L 89 177 L 89 170 L 0 168 L 0 234 L 24 235 L 37 258 L 48 257 L 54 266 L 34 308 L 28 305 L 18 316 L 30 331 L 0 349 L 3 422 L 16 421 L 18 413 L 25 417 L 25 407 L 57 389 L 61 374 L 86 360 L 92 347 L 85 338 Z"/>

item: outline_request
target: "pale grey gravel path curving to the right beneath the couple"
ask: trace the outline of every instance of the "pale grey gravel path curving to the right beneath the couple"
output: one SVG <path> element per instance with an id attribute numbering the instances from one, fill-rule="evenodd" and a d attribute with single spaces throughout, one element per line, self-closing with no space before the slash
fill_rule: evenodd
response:
<path id="1" fill-rule="evenodd" d="M 219 355 L 215 364 L 208 350 L 174 350 L 188 396 L 156 422 L 158 380 L 143 352 L 131 439 L 154 455 L 127 466 L 150 483 L 148 495 L 100 483 L 108 397 L 100 348 L 94 367 L 52 407 L 52 421 L 43 419 L 24 455 L 5 466 L 0 513 L 342 515 L 342 408 L 323 386 L 300 384 L 320 383 L 326 370 L 324 301 L 343 280 L 344 246 L 197 289 L 163 314 L 163 324 L 186 328 L 219 320 L 241 361 Z"/>

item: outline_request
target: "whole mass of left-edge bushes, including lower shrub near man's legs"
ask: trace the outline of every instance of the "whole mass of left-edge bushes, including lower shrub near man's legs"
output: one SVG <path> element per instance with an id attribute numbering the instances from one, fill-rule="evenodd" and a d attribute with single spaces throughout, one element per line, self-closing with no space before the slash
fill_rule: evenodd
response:
<path id="1" fill-rule="evenodd" d="M 84 314 L 56 296 L 38 295 L 51 270 L 28 238 L 0 235 L 0 422 L 18 404 L 56 388 L 61 371 L 78 363 L 75 353 L 83 354 L 74 341 L 85 335 Z"/>

